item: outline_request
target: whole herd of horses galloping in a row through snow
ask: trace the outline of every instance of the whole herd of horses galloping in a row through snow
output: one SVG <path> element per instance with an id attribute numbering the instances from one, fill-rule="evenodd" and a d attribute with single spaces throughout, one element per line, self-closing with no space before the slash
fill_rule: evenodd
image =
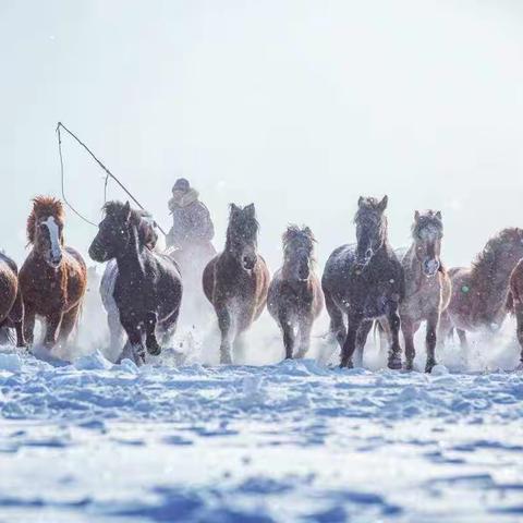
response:
<path id="1" fill-rule="evenodd" d="M 387 204 L 387 196 L 360 197 L 356 243 L 333 251 L 321 279 L 316 273 L 316 240 L 308 227 L 287 229 L 283 263 L 271 278 L 258 253 L 254 204 L 232 204 L 224 248 L 199 278 L 221 332 L 220 362 L 233 362 L 234 349 L 266 306 L 280 327 L 285 357 L 303 357 L 325 306 L 330 333 L 341 348 L 342 367 L 361 365 L 374 326 L 388 346 L 389 368 L 412 369 L 414 335 L 426 323 L 426 372 L 430 372 L 437 364 L 436 346 L 452 331 L 466 349 L 466 332 L 496 332 L 511 312 L 522 345 L 521 366 L 523 230 L 503 229 L 470 267 L 446 268 L 440 258 L 441 212 L 416 211 L 412 244 L 398 252 L 388 240 Z M 36 317 L 45 325 L 42 342 L 49 349 L 66 343 L 78 321 L 87 270 L 80 253 L 65 246 L 63 229 L 62 203 L 36 197 L 27 219 L 32 248 L 20 272 L 12 259 L 0 254 L 0 326 L 15 329 L 17 346 L 34 343 Z M 145 362 L 146 351 L 158 355 L 174 333 L 187 284 L 175 256 L 157 252 L 157 240 L 150 215 L 129 203 L 110 202 L 89 247 L 92 259 L 108 263 L 104 304 L 109 324 L 118 324 L 127 338 L 121 358 L 137 364 Z"/>

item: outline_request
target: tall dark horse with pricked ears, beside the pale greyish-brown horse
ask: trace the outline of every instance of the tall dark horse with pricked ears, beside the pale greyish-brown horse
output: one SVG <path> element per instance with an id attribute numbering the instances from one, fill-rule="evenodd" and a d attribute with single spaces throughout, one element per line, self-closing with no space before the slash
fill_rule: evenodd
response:
<path id="1" fill-rule="evenodd" d="M 340 367 L 358 364 L 373 320 L 386 319 L 390 330 L 389 368 L 401 368 L 399 305 L 404 296 L 403 269 L 387 235 L 388 197 L 360 196 L 356 244 L 332 252 L 325 266 L 321 288 L 330 317 L 330 332 L 341 346 Z M 344 319 L 348 319 L 348 328 Z"/>

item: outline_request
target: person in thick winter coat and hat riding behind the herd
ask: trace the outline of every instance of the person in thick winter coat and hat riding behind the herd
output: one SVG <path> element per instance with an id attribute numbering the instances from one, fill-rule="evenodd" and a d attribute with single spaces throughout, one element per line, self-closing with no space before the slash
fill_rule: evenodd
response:
<path id="1" fill-rule="evenodd" d="M 198 192 L 191 187 L 184 178 L 180 178 L 172 187 L 169 200 L 172 215 L 172 229 L 167 238 L 167 245 L 186 248 L 195 244 L 210 244 L 215 227 L 209 210 L 198 199 Z"/>

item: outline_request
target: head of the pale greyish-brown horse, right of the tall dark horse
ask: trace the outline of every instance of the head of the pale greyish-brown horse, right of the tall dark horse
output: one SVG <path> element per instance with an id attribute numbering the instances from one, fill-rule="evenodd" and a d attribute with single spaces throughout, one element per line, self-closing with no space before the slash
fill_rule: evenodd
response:
<path id="1" fill-rule="evenodd" d="M 443 222 L 441 212 L 426 210 L 414 212 L 412 238 L 415 243 L 415 254 L 422 264 L 423 273 L 431 278 L 441 269 L 441 239 Z"/>

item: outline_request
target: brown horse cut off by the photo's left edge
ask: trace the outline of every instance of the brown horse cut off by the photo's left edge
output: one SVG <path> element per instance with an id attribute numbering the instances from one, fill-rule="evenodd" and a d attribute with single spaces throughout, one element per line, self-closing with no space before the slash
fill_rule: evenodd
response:
<path id="1" fill-rule="evenodd" d="M 19 268 L 5 254 L 0 252 L 0 329 L 10 339 L 4 329 L 14 328 L 16 346 L 25 346 L 24 339 L 24 304 L 19 285 Z"/>

